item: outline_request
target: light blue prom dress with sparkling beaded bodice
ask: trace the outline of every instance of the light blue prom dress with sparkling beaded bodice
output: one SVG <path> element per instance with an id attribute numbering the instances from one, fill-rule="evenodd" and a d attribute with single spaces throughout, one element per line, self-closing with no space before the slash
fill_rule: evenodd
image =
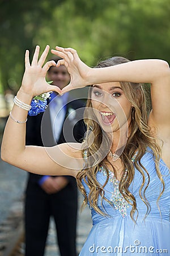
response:
<path id="1" fill-rule="evenodd" d="M 158 208 L 156 200 L 162 191 L 162 183 L 156 174 L 150 149 L 147 149 L 143 155 L 141 163 L 150 175 L 150 184 L 146 189 L 146 199 L 151 207 L 150 213 L 144 220 L 147 208 L 139 196 L 139 188 L 142 184 L 142 175 L 139 171 L 135 170 L 134 180 L 129 187 L 129 191 L 133 193 L 137 201 L 138 219 L 136 224 L 130 217 L 131 206 L 118 191 L 118 180 L 115 179 L 112 172 L 109 172 L 109 181 L 105 186 L 105 197 L 111 203 L 103 201 L 105 212 L 109 216 L 101 216 L 90 207 L 93 226 L 79 256 L 170 256 L 169 168 L 161 159 L 160 171 L 165 182 L 165 190 L 160 197 Z M 101 167 L 100 171 L 97 172 L 97 180 L 100 184 L 104 184 L 106 179 L 106 172 Z M 147 180 L 146 175 L 146 183 Z M 89 188 L 84 182 L 83 186 L 88 197 Z M 98 202 L 100 207 L 100 197 Z"/>

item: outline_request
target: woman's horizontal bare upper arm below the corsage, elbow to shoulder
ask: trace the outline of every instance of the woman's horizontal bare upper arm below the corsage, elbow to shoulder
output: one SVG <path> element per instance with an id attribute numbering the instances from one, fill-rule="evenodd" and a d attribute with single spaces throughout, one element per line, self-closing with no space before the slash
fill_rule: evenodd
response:
<path id="1" fill-rule="evenodd" d="M 76 176 L 77 172 L 83 168 L 80 143 L 63 143 L 46 148 L 25 146 L 24 150 L 17 151 L 15 146 L 13 150 L 8 149 L 8 147 L 3 148 L 5 141 L 6 134 L 3 137 L 2 152 L 5 153 L 2 153 L 4 156 L 2 159 L 25 171 L 41 175 Z M 23 142 L 20 141 L 19 143 L 22 144 Z"/>

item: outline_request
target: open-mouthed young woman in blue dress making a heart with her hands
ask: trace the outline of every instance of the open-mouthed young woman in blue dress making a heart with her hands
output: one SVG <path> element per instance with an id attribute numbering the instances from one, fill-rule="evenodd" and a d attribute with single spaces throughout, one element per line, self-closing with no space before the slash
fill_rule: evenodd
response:
<path id="1" fill-rule="evenodd" d="M 90 68 L 74 49 L 56 47 L 71 76 L 64 89 L 49 85 L 46 47 L 25 73 L 6 124 L 2 159 L 42 175 L 72 175 L 90 205 L 93 228 L 80 252 L 87 255 L 168 255 L 170 71 L 163 60 L 113 57 Z M 152 110 L 146 112 L 141 83 L 151 84 Z M 25 147 L 25 121 L 34 96 L 90 86 L 84 142 Z M 42 134 L 43 135 L 43 134 Z M 46 166 L 49 173 L 46 173 Z M 41 170 L 41 172 L 40 172 Z"/>

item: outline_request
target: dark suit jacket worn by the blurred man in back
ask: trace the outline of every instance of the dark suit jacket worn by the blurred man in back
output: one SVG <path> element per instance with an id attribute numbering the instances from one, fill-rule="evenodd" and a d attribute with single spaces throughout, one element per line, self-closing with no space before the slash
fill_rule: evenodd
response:
<path id="1" fill-rule="evenodd" d="M 84 138 L 84 133 L 86 131 L 86 126 L 83 122 L 83 108 L 85 106 L 85 103 L 80 100 L 71 101 L 70 96 L 68 102 L 69 103 L 66 105 L 64 126 L 61 131 L 58 144 L 64 142 L 82 142 L 82 139 Z M 76 115 L 69 115 L 70 110 L 72 111 L 73 109 L 77 109 L 77 111 L 75 112 Z M 71 131 L 73 131 L 73 134 L 71 133 Z M 73 136 L 75 137 L 76 141 Z M 45 113 L 40 113 L 32 117 L 28 116 L 26 144 L 35 146 L 54 146 L 57 144 L 56 140 L 53 137 L 49 108 L 45 110 Z M 48 168 L 48 166 L 46 168 Z M 31 186 L 32 183 L 37 184 L 36 190 L 39 189 L 38 181 L 39 179 L 41 179 L 41 177 L 42 175 L 29 173 L 27 193 L 33 193 Z M 76 187 L 76 180 L 74 177 L 65 177 L 69 179 L 69 185 Z"/>

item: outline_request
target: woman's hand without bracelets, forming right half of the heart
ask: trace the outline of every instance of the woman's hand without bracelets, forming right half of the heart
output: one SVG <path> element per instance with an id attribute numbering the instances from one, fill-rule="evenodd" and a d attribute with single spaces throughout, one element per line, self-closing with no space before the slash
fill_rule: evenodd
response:
<path id="1" fill-rule="evenodd" d="M 89 73 L 92 68 L 88 67 L 82 60 L 80 60 L 75 49 L 56 46 L 56 50 L 52 49 L 51 52 L 63 59 L 58 60 L 56 67 L 65 65 L 71 77 L 70 84 L 65 86 L 65 88 L 61 90 L 61 93 L 91 84 L 88 77 L 90 77 Z"/>

